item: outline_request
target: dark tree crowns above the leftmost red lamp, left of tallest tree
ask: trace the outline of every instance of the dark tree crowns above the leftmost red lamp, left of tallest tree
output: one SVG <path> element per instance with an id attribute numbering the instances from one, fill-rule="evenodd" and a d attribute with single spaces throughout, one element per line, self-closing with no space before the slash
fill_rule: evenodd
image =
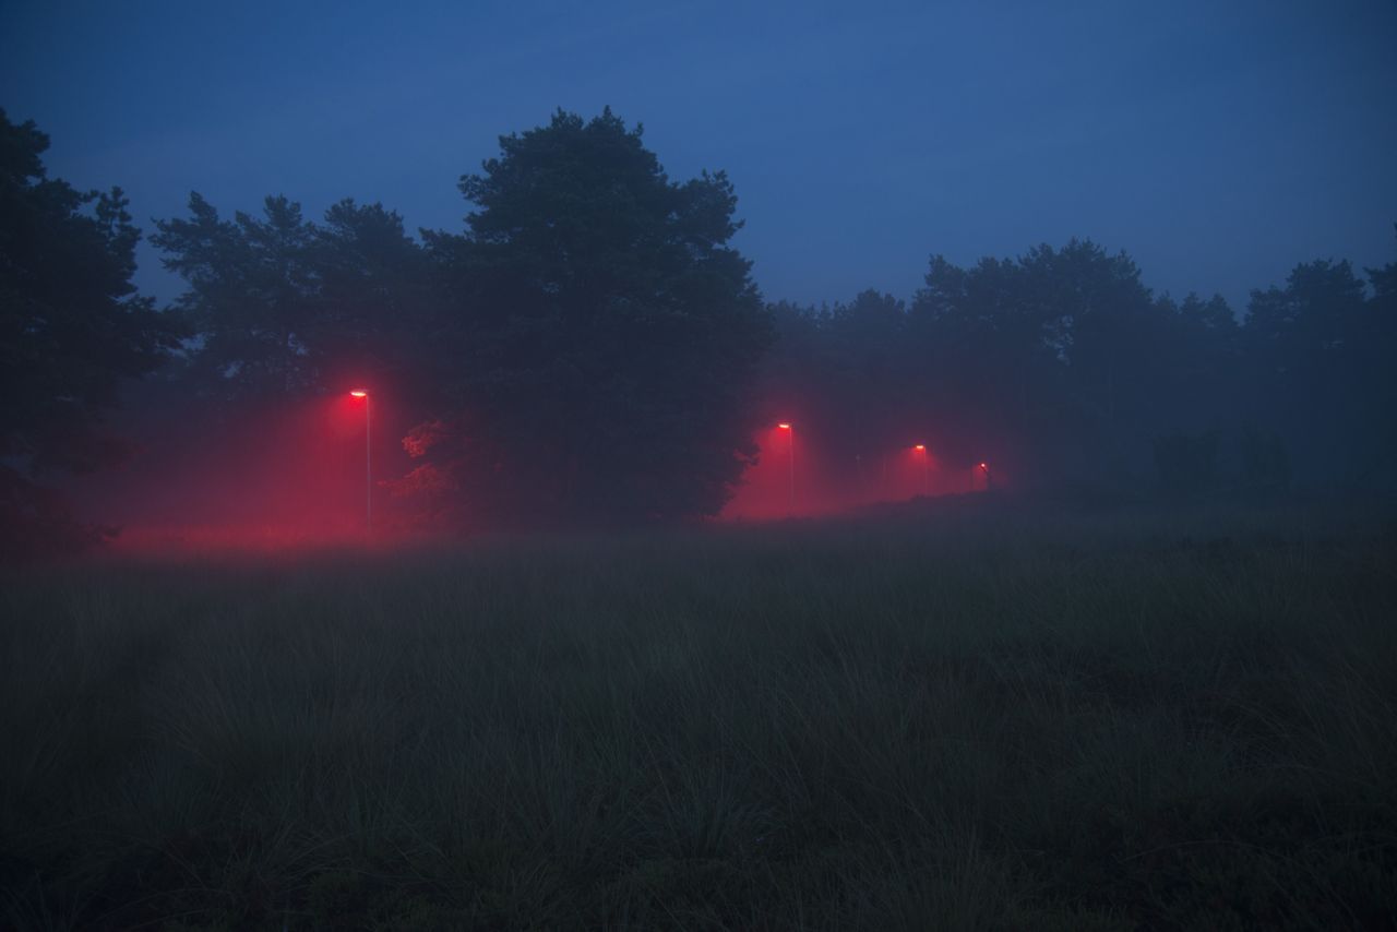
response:
<path id="1" fill-rule="evenodd" d="M 411 394 L 402 376 L 425 340 L 430 281 L 398 214 L 344 200 L 316 225 L 278 196 L 260 218 L 237 211 L 225 221 L 198 193 L 189 211 L 156 221 L 152 238 L 165 267 L 189 282 L 176 307 L 198 342 L 182 384 L 239 405 L 349 381 L 404 383 Z"/>

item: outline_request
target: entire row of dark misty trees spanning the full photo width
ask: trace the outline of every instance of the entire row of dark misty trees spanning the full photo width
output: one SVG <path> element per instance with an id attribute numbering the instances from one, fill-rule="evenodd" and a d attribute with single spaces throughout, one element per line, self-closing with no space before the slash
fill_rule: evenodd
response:
<path id="1" fill-rule="evenodd" d="M 120 190 L 46 179 L 32 123 L 0 112 L 0 134 L 11 549 L 91 532 L 41 481 L 119 454 L 101 415 L 123 381 L 193 432 L 370 384 L 415 412 L 393 490 L 447 525 L 711 516 L 777 416 L 833 464 L 915 440 L 1023 486 L 1397 475 L 1397 264 L 1366 282 L 1298 265 L 1241 320 L 1218 296 L 1155 296 L 1125 253 L 1080 240 L 936 256 L 909 303 L 768 305 L 729 245 L 722 172 L 673 182 L 638 126 L 560 110 L 461 179 L 455 233 L 414 238 L 381 204 L 314 222 L 286 197 L 225 217 L 191 194 L 155 222 L 187 285 L 156 310 L 130 281 Z"/>

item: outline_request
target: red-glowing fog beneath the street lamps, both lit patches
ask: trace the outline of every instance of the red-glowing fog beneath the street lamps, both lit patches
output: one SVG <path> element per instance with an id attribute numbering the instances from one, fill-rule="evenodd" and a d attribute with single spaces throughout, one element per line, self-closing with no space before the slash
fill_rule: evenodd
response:
<path id="1" fill-rule="evenodd" d="M 136 422 L 119 465 L 63 488 L 78 514 L 119 531 L 110 541 L 117 551 L 404 545 L 440 541 L 443 531 L 495 530 L 443 527 L 422 514 L 398 485 L 412 468 L 401 415 L 381 402 L 370 414 L 367 443 L 365 402 L 348 393 L 217 423 L 180 418 L 183 430 L 151 425 L 142 435 Z M 951 465 L 925 444 L 849 456 L 799 430 L 792 443 L 791 429 L 773 426 L 757 433 L 756 463 L 708 520 L 856 514 L 877 504 L 981 493 L 995 483 L 1013 488 L 988 463 Z"/>

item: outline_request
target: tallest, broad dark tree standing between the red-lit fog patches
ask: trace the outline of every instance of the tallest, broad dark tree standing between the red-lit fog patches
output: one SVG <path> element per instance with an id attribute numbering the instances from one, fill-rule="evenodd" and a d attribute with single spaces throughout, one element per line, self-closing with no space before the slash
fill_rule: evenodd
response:
<path id="1" fill-rule="evenodd" d="M 476 516 L 717 513 L 756 453 L 771 330 L 726 176 L 673 183 L 638 126 L 560 110 L 461 191 L 468 232 L 427 238 L 448 305 L 409 488 Z"/>

